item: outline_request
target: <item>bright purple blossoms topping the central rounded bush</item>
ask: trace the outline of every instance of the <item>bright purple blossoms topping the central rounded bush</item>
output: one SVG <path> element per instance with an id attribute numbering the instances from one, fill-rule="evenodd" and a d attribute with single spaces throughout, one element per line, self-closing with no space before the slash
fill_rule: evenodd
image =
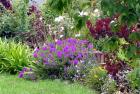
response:
<path id="1" fill-rule="evenodd" d="M 44 64 L 69 62 L 72 65 L 77 65 L 80 60 L 87 59 L 88 52 L 92 50 L 93 45 L 87 40 L 68 38 L 36 48 L 33 57 L 38 63 L 40 61 Z"/>

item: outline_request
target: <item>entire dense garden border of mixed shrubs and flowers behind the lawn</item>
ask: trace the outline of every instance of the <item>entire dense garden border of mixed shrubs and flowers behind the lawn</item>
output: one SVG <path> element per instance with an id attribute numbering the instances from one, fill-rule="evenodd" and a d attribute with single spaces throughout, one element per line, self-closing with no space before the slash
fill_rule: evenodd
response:
<path id="1" fill-rule="evenodd" d="M 0 0 L 0 37 L 1 72 L 140 92 L 139 0 Z"/>

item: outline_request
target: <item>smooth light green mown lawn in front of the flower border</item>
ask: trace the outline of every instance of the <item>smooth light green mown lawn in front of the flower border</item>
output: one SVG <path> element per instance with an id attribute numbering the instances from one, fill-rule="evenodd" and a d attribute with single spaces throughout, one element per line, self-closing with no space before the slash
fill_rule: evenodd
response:
<path id="1" fill-rule="evenodd" d="M 26 81 L 17 76 L 0 75 L 0 94 L 96 94 L 78 84 L 59 80 Z"/>

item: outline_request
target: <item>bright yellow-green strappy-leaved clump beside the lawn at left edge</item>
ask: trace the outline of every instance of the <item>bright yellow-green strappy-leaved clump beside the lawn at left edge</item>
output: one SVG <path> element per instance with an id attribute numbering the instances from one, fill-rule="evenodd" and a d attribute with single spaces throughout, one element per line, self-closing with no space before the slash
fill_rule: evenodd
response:
<path id="1" fill-rule="evenodd" d="M 28 46 L 0 39 L 0 72 L 17 73 L 31 62 Z"/>

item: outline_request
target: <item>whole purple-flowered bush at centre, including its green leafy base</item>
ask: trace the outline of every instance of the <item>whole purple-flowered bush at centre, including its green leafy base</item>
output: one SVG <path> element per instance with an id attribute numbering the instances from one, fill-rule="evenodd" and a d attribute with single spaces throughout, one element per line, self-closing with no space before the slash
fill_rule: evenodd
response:
<path id="1" fill-rule="evenodd" d="M 46 43 L 34 50 L 33 57 L 31 67 L 40 78 L 81 79 L 95 64 L 93 45 L 74 38 Z"/>

